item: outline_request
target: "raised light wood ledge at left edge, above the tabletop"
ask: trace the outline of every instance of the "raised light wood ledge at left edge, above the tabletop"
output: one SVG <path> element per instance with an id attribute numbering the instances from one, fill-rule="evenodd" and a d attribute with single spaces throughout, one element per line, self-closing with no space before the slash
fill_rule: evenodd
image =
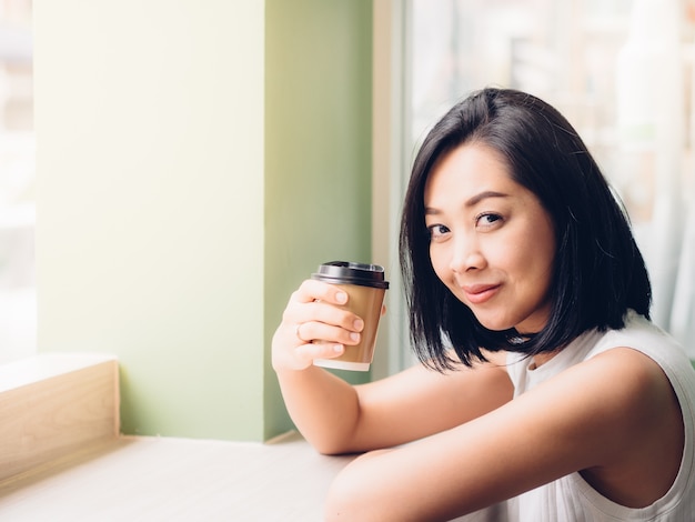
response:
<path id="1" fill-rule="evenodd" d="M 115 358 L 56 353 L 0 365 L 0 480 L 118 434 Z"/>

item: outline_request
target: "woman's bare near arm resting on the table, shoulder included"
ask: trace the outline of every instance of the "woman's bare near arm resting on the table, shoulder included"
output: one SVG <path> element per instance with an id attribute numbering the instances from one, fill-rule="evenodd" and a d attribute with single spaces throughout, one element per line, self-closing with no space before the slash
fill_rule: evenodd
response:
<path id="1" fill-rule="evenodd" d="M 326 520 L 450 520 L 574 471 L 644 506 L 673 483 L 682 448 L 666 377 L 615 349 L 471 422 L 359 458 L 332 485 Z"/>

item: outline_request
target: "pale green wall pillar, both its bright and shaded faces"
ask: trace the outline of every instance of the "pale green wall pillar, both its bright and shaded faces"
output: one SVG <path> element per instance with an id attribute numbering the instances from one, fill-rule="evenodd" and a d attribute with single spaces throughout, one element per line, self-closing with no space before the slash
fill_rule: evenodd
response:
<path id="1" fill-rule="evenodd" d="M 114 353 L 122 430 L 290 426 L 291 289 L 370 245 L 371 2 L 36 0 L 39 351 Z"/>

